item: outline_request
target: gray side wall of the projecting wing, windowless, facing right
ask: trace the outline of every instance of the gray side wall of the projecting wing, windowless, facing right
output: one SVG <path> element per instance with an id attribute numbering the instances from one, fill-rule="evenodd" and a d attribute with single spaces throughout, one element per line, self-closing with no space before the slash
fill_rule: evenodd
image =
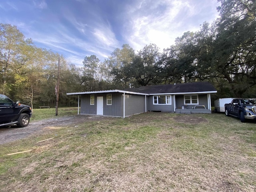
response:
<path id="1" fill-rule="evenodd" d="M 145 112 L 145 96 L 125 94 L 125 116 Z"/>

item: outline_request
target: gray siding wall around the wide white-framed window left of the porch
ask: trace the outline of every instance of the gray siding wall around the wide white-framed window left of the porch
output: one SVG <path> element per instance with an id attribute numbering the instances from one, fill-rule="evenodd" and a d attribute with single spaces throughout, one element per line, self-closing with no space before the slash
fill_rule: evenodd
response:
<path id="1" fill-rule="evenodd" d="M 147 110 L 148 111 L 161 111 L 161 112 L 174 112 L 173 108 L 173 96 L 171 96 L 171 105 L 159 105 L 153 104 L 153 96 L 147 96 Z"/>

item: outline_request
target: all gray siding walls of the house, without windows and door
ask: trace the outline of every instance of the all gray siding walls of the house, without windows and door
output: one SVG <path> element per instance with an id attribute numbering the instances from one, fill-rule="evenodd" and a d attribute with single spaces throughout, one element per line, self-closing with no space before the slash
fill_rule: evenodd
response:
<path id="1" fill-rule="evenodd" d="M 90 105 L 90 94 L 82 95 L 81 99 L 81 114 L 97 114 L 97 97 L 103 96 L 103 115 L 123 117 L 123 94 L 112 93 L 112 105 L 107 105 L 107 94 L 94 94 L 94 105 Z M 199 104 L 204 105 L 208 109 L 207 94 L 198 95 Z M 174 112 L 174 96 L 171 96 L 171 105 L 154 105 L 153 96 L 146 97 L 147 111 L 162 111 Z M 184 105 L 184 95 L 176 95 L 176 108 L 181 108 Z M 192 109 L 195 105 L 188 105 Z M 209 110 L 209 109 L 208 109 Z M 145 96 L 125 94 L 125 116 L 139 114 L 145 112 Z"/>

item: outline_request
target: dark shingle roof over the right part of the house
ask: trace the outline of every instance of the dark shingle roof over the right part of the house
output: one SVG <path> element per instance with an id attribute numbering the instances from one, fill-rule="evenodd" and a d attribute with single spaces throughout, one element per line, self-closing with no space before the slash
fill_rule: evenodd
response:
<path id="1" fill-rule="evenodd" d="M 146 93 L 146 94 L 160 94 L 160 93 L 190 93 L 190 92 L 210 92 L 216 91 L 210 82 L 192 82 L 192 83 L 178 83 L 167 85 L 152 85 L 142 86 L 139 88 L 127 88 L 125 91 Z"/>

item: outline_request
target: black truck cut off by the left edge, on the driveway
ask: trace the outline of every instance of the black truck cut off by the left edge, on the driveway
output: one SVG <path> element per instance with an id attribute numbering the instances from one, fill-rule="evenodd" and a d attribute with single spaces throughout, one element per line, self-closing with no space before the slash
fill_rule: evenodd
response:
<path id="1" fill-rule="evenodd" d="M 15 103 L 7 96 L 0 94 L 0 126 L 16 124 L 18 127 L 25 127 L 31 115 L 30 106 L 22 105 L 18 101 Z"/>

